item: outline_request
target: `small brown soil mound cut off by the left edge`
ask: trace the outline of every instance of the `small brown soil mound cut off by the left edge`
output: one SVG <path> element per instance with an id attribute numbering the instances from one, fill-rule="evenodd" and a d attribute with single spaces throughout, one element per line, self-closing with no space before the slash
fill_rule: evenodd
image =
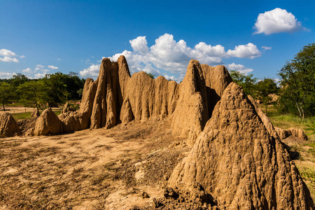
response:
<path id="1" fill-rule="evenodd" d="M 0 114 L 0 137 L 14 137 L 15 135 L 20 135 L 20 128 L 18 123 L 14 120 L 7 112 Z"/>

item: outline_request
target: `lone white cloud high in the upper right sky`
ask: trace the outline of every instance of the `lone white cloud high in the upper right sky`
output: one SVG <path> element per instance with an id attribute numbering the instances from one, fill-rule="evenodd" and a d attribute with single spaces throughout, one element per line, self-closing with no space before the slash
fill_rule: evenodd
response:
<path id="1" fill-rule="evenodd" d="M 292 13 L 281 8 L 260 13 L 255 22 L 254 34 L 275 34 L 281 32 L 294 32 L 303 29 Z"/>

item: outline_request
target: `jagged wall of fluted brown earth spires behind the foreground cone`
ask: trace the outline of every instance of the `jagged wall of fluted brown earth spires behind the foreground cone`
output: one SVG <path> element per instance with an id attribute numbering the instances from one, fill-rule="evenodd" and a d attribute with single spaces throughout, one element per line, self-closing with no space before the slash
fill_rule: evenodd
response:
<path id="1" fill-rule="evenodd" d="M 200 65 L 197 60 L 190 61 L 183 82 L 177 84 L 162 76 L 152 79 L 143 71 L 131 77 L 125 57 L 120 56 L 117 62 L 104 58 L 97 80 L 85 82 L 80 110 L 69 112 L 65 107 L 59 115 L 59 132 L 169 118 L 174 134 L 189 137 L 194 143 L 231 81 L 224 66 Z M 38 120 L 38 129 L 48 126 L 43 122 L 39 126 Z"/>

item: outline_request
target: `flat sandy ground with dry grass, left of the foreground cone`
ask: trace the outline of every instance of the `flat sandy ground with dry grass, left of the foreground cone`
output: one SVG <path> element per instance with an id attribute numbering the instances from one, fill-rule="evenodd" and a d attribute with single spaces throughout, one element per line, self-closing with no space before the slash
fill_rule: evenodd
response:
<path id="1" fill-rule="evenodd" d="M 149 208 L 189 149 L 154 119 L 0 139 L 0 209 Z"/>

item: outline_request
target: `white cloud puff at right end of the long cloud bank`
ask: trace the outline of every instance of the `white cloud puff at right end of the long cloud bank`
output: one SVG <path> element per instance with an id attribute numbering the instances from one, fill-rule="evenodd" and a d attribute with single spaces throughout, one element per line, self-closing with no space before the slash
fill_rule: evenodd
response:
<path id="1" fill-rule="evenodd" d="M 234 50 L 228 50 L 227 55 L 231 57 L 246 57 L 253 59 L 254 57 L 260 57 L 261 52 L 256 45 L 248 43 L 246 45 L 235 46 Z"/>

